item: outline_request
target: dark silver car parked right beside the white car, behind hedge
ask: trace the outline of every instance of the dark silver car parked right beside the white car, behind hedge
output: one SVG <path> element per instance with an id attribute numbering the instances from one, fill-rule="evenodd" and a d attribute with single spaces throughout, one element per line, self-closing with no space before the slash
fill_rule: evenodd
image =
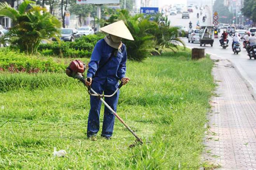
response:
<path id="1" fill-rule="evenodd" d="M 75 41 L 76 38 L 79 38 L 80 34 L 76 29 L 72 28 L 61 28 L 61 36 L 60 40 L 61 41 Z M 56 41 L 55 38 L 52 38 L 52 41 Z"/>

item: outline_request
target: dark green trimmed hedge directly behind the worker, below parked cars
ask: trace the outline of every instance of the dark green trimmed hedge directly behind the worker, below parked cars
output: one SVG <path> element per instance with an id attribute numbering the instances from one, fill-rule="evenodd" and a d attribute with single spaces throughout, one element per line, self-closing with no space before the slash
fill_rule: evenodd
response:
<path id="1" fill-rule="evenodd" d="M 38 51 L 42 55 L 58 57 L 91 57 L 95 44 L 104 38 L 103 34 L 87 35 L 76 39 L 74 42 L 53 42 L 40 44 Z"/>

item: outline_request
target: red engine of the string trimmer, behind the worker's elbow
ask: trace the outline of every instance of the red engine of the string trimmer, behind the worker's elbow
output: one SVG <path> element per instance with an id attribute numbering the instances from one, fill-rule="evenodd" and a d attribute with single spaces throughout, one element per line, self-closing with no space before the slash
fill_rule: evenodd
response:
<path id="1" fill-rule="evenodd" d="M 66 69 L 66 74 L 68 77 L 74 77 L 76 73 L 84 73 L 86 66 L 80 60 L 73 60 L 68 68 Z"/>

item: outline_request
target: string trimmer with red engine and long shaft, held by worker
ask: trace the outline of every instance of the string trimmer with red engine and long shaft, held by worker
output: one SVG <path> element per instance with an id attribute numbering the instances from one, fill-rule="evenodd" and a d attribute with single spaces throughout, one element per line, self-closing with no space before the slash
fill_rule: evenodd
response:
<path id="1" fill-rule="evenodd" d="M 69 64 L 68 68 L 66 69 L 66 74 L 69 77 L 76 78 L 76 79 L 80 80 L 86 86 L 84 76 L 82 75 L 85 71 L 85 68 L 86 67 L 83 62 L 81 62 L 79 60 L 74 60 Z M 90 81 L 90 79 L 87 79 L 87 81 Z M 138 137 L 138 135 L 124 122 L 124 120 L 120 116 L 117 115 L 117 113 L 106 103 L 105 100 L 103 100 L 103 97 L 114 96 L 122 86 L 123 86 L 123 84 L 121 82 L 118 85 L 116 91 L 111 95 L 98 94 L 90 86 L 87 87 L 87 89 L 88 89 L 89 95 L 98 97 L 103 102 L 103 104 L 106 107 L 108 107 L 108 109 L 112 112 L 112 114 L 115 115 L 121 123 L 123 123 L 123 125 L 132 133 L 132 135 L 134 137 L 136 137 L 137 141 L 140 142 L 140 144 L 143 144 L 143 141 L 140 139 L 140 137 Z M 131 145 L 131 146 L 134 146 L 134 145 Z"/>

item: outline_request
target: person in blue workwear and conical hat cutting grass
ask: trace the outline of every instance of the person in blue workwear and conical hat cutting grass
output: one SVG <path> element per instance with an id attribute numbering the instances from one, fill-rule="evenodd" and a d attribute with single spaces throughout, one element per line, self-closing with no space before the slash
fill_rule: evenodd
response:
<path id="1" fill-rule="evenodd" d="M 123 85 L 128 83 L 129 78 L 125 77 L 127 53 L 122 38 L 134 40 L 132 34 L 125 26 L 124 22 L 117 21 L 108 26 L 102 27 L 101 31 L 107 33 L 104 39 L 98 41 L 93 49 L 89 69 L 87 71 L 86 85 L 92 87 L 99 94 L 112 94 L 116 91 L 118 80 Z M 113 97 L 105 98 L 108 105 L 116 111 L 119 92 Z M 95 97 L 90 97 L 91 109 L 87 124 L 87 137 L 96 140 L 96 134 L 100 128 L 100 107 L 101 101 Z M 110 110 L 104 108 L 104 118 L 101 136 L 110 139 L 113 133 L 115 115 Z"/>

